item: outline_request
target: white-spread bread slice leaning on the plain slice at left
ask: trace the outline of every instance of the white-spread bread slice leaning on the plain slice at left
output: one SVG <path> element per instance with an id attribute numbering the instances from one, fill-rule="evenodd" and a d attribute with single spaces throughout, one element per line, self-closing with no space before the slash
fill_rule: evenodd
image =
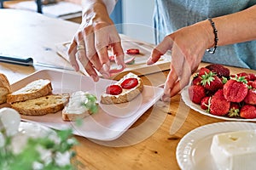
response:
<path id="1" fill-rule="evenodd" d="M 52 92 L 51 82 L 47 79 L 38 79 L 28 83 L 25 87 L 9 94 L 7 103 L 12 104 L 27 99 L 36 99 Z"/>

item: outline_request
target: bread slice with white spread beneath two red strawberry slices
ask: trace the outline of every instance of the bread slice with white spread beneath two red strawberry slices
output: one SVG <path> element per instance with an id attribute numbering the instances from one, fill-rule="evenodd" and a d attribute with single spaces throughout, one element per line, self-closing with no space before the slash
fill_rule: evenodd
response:
<path id="1" fill-rule="evenodd" d="M 125 81 L 127 78 L 137 78 L 138 84 L 136 87 L 131 89 L 123 89 L 121 94 L 118 95 L 112 95 L 112 94 L 102 94 L 101 96 L 101 103 L 102 104 L 120 104 L 129 102 L 132 99 L 136 98 L 138 94 L 141 94 L 143 92 L 143 81 L 140 77 L 137 77 L 136 74 L 128 73 L 123 78 L 119 80 L 119 82 L 116 82 L 115 84 L 120 85 L 122 82 Z"/>

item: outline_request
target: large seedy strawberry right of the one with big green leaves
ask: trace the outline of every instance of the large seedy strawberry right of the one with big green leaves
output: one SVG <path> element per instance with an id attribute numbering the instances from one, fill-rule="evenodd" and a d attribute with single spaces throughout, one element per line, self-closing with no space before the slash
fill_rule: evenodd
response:
<path id="1" fill-rule="evenodd" d="M 230 79 L 224 84 L 224 97 L 225 99 L 239 103 L 247 96 L 248 88 L 244 82 L 237 82 Z"/>

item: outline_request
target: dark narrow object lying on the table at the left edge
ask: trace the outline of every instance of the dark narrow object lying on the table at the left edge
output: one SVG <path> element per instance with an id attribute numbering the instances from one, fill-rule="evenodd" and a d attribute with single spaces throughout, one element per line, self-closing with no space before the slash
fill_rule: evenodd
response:
<path id="1" fill-rule="evenodd" d="M 15 56 L 7 56 L 0 55 L 0 61 L 15 65 L 33 65 L 33 59 L 31 57 L 15 57 Z"/>

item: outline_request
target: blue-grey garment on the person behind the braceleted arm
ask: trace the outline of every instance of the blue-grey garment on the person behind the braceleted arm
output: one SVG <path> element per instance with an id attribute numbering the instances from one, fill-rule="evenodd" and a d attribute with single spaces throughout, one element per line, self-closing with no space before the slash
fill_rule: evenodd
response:
<path id="1" fill-rule="evenodd" d="M 155 41 L 159 43 L 183 26 L 236 13 L 255 4 L 256 0 L 155 0 Z M 206 52 L 202 60 L 256 70 L 256 41 L 218 47 L 215 54 Z"/>

